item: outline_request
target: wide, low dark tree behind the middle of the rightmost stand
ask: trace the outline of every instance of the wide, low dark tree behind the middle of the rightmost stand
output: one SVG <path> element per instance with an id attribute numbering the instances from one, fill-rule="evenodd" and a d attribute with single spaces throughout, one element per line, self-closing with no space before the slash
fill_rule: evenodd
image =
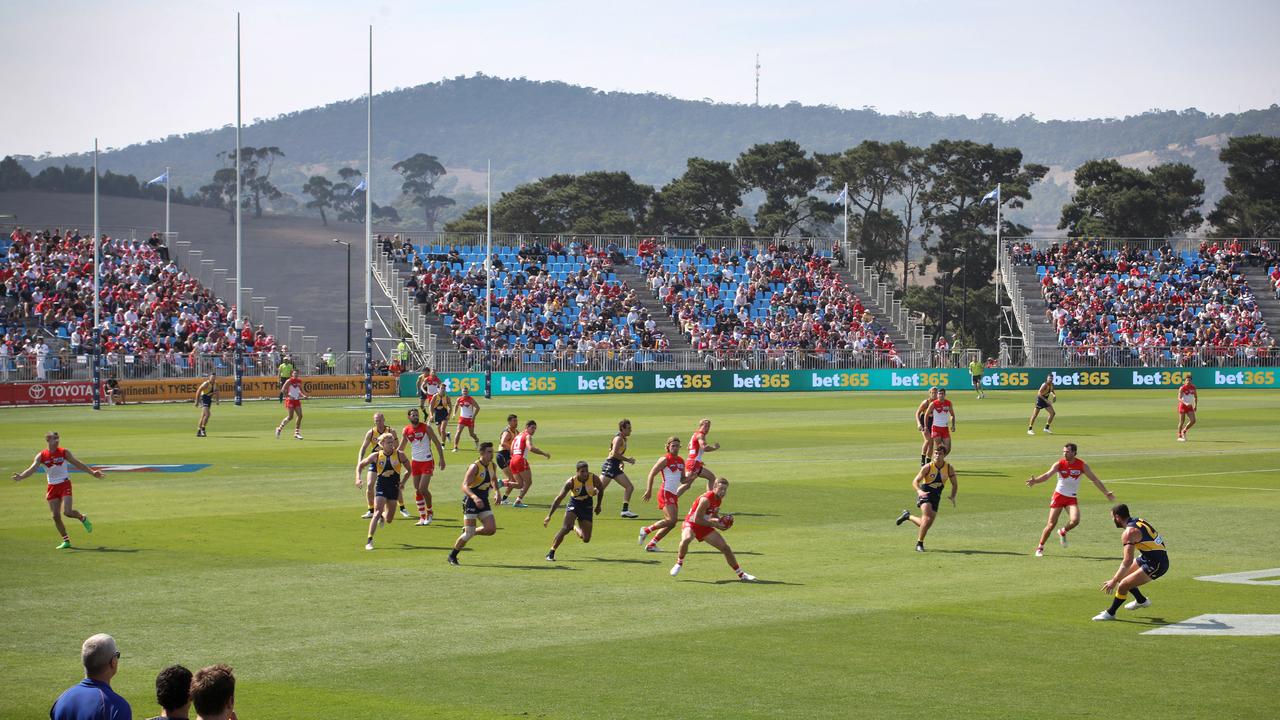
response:
<path id="1" fill-rule="evenodd" d="M 1203 222 L 1204 182 L 1183 163 L 1143 172 L 1089 160 L 1075 169 L 1075 186 L 1057 223 L 1073 237 L 1170 237 Z"/>

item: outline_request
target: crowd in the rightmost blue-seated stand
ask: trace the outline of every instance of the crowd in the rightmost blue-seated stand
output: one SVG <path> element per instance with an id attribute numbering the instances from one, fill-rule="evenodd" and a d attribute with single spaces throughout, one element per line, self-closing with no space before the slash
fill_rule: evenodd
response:
<path id="1" fill-rule="evenodd" d="M 1074 359 L 1197 365 L 1272 356 L 1275 340 L 1239 273 L 1242 263 L 1275 261 L 1265 246 L 1245 251 L 1239 242 L 1207 242 L 1184 256 L 1167 243 L 1105 250 L 1100 241 L 1078 240 L 1015 256 L 1043 269 L 1048 319 Z"/>

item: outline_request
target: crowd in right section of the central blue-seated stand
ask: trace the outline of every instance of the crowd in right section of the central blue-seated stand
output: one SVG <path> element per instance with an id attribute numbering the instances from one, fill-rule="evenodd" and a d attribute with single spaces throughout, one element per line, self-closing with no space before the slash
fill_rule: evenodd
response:
<path id="1" fill-rule="evenodd" d="M 833 258 L 812 243 L 753 249 L 667 249 L 645 241 L 639 256 L 649 290 L 692 347 L 713 365 L 763 355 L 774 366 L 901 366 L 893 341 L 854 295 Z M 801 359 L 801 360 L 797 360 Z"/>

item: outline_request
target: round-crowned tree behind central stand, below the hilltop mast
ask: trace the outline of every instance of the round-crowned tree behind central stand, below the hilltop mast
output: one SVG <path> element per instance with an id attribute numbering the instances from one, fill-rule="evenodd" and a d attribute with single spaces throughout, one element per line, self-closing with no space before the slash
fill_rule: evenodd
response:
<path id="1" fill-rule="evenodd" d="M 745 187 L 764 192 L 755 211 L 755 233 L 785 237 L 805 223 L 831 223 L 835 205 L 810 195 L 818 187 L 818 161 L 794 140 L 753 145 L 733 172 Z"/>

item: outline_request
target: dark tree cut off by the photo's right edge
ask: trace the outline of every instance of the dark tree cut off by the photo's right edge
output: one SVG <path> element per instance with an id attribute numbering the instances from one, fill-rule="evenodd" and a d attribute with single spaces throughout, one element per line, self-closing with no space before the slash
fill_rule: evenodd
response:
<path id="1" fill-rule="evenodd" d="M 1233 137 L 1219 159 L 1226 164 L 1226 195 L 1208 214 L 1213 232 L 1233 237 L 1280 236 L 1280 137 Z"/>

